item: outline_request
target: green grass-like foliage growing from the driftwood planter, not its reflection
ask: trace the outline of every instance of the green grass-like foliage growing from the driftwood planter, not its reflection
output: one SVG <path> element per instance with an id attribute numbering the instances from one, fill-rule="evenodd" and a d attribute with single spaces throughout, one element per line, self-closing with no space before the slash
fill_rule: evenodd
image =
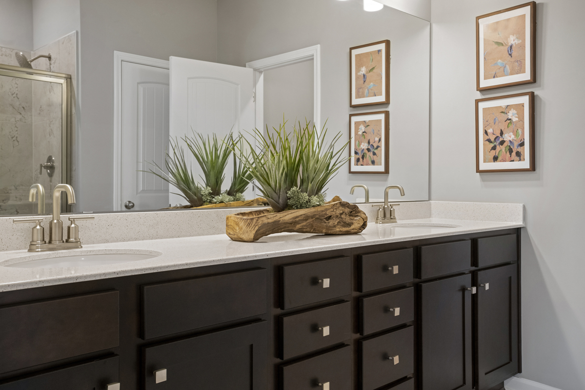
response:
<path id="1" fill-rule="evenodd" d="M 331 143 L 325 144 L 325 126 L 322 134 L 319 134 L 309 122 L 304 127 L 299 122 L 292 131 L 285 129 L 286 123 L 283 120 L 278 129 L 273 127 L 274 132 L 270 132 L 267 126 L 266 134 L 258 129 L 250 133 L 260 151 L 256 151 L 246 139 L 249 146 L 247 152 L 243 144 L 233 146 L 262 195 L 276 212 L 287 206 L 302 208 L 302 205 L 310 207 L 322 203 L 312 197 L 322 193 L 325 185 L 347 161 L 347 158 L 342 157 L 347 143 L 335 150 L 335 142 L 340 139 L 341 133 L 333 137 Z M 294 204 L 289 205 L 287 194 L 294 187 L 295 191 L 291 192 L 294 194 Z M 306 201 L 304 196 L 297 194 L 298 191 L 307 194 Z M 321 195 L 319 199 L 324 199 L 324 196 Z"/>

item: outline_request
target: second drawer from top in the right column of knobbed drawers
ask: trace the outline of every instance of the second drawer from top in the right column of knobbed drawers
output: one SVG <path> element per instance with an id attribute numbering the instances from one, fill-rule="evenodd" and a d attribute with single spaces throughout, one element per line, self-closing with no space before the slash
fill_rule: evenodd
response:
<path id="1" fill-rule="evenodd" d="M 414 288 L 360 298 L 360 320 L 362 336 L 414 320 Z"/>

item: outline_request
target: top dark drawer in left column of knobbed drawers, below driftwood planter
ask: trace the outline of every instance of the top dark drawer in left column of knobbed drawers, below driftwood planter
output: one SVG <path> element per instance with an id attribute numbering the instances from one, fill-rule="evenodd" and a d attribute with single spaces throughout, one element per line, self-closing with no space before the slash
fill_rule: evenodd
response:
<path id="1" fill-rule="evenodd" d="M 350 257 L 283 265 L 281 276 L 283 310 L 352 293 Z"/>

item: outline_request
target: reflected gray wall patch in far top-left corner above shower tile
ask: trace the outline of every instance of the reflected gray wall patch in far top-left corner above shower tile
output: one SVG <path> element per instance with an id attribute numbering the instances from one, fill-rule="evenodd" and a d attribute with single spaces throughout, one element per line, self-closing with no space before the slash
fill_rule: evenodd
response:
<path id="1" fill-rule="evenodd" d="M 33 50 L 32 13 L 32 0 L 0 0 L 0 46 Z"/>

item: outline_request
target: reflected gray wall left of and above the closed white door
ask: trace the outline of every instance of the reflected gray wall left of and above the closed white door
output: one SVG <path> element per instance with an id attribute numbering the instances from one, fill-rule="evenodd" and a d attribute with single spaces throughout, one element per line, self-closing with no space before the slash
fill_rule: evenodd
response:
<path id="1" fill-rule="evenodd" d="M 216 61 L 215 0 L 81 0 L 80 210 L 113 208 L 113 52 Z"/>

